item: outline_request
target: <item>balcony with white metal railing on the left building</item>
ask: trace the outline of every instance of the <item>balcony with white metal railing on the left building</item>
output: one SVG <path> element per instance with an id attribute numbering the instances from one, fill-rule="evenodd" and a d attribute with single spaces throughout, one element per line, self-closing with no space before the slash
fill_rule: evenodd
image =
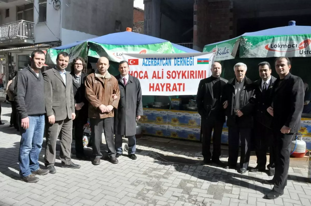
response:
<path id="1" fill-rule="evenodd" d="M 0 47 L 7 44 L 25 45 L 35 42 L 35 23 L 30 21 L 15 21 L 0 25 Z"/>

